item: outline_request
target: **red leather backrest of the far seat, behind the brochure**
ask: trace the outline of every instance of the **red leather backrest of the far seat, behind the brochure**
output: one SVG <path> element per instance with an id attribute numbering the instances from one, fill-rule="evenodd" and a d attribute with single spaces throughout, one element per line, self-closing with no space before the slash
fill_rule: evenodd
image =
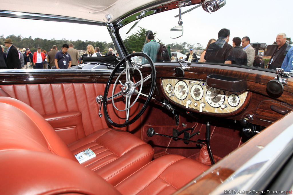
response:
<path id="1" fill-rule="evenodd" d="M 30 106 L 0 97 L 0 110 L 0 151 L 42 151 L 77 161 L 49 123 Z"/>

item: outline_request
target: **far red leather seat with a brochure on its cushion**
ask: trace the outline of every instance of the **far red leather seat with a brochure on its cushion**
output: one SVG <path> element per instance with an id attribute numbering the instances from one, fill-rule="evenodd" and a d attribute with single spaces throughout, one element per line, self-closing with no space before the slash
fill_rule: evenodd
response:
<path id="1" fill-rule="evenodd" d="M 149 144 L 128 132 L 113 128 L 94 132 L 68 147 L 49 123 L 27 104 L 0 97 L 0 110 L 0 151 L 41 151 L 77 162 L 74 155 L 90 148 L 96 157 L 82 165 L 112 185 L 149 163 L 154 154 Z"/>

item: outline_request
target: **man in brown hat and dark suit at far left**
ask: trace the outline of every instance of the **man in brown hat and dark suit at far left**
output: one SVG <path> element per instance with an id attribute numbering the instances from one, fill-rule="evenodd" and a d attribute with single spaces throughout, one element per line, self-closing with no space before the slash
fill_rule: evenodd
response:
<path id="1" fill-rule="evenodd" d="M 7 69 L 20 69 L 21 63 L 19 60 L 18 51 L 16 47 L 13 45 L 12 40 L 7 38 L 4 40 L 4 44 L 6 47 L 8 47 L 6 55 Z"/>

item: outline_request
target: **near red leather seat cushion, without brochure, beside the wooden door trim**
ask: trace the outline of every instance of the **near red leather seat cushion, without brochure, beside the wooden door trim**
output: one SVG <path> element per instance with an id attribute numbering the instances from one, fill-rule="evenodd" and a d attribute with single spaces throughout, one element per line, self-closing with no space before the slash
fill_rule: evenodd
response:
<path id="1" fill-rule="evenodd" d="M 121 194 L 173 194 L 209 168 L 208 165 L 178 155 L 164 155 L 120 182 Z"/>

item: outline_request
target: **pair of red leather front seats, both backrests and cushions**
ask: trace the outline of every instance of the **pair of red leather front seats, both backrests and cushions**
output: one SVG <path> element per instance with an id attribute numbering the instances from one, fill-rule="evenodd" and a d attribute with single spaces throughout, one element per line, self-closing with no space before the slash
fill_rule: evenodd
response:
<path id="1" fill-rule="evenodd" d="M 67 147 L 25 103 L 0 97 L 0 110 L 1 194 L 172 194 L 209 168 L 178 155 L 143 166 L 153 156 L 151 146 L 112 128 Z M 84 163 L 90 170 L 73 156 L 87 148 L 97 155 Z"/>

